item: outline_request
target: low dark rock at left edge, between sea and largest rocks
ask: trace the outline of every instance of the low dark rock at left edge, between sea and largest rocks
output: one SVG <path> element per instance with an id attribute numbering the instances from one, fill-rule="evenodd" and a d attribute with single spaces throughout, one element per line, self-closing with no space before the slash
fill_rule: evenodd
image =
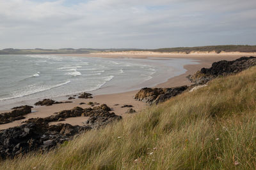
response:
<path id="1" fill-rule="evenodd" d="M 12 108 L 13 111 L 9 113 L 0 114 L 0 124 L 7 124 L 15 120 L 24 119 L 25 117 L 23 117 L 23 115 L 31 113 L 31 108 L 33 108 L 33 106 L 19 106 Z"/>

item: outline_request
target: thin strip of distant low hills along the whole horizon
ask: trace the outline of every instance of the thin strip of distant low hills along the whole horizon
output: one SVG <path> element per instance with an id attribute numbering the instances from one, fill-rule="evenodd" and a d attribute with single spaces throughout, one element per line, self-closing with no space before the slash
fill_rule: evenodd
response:
<path id="1" fill-rule="evenodd" d="M 217 45 L 217 46 L 195 46 L 175 47 L 158 49 L 138 48 L 61 48 L 61 49 L 14 49 L 6 48 L 0 50 L 0 55 L 6 54 L 58 54 L 58 53 L 92 53 L 92 52 L 127 52 L 127 51 L 149 51 L 149 52 L 256 52 L 256 45 Z"/>

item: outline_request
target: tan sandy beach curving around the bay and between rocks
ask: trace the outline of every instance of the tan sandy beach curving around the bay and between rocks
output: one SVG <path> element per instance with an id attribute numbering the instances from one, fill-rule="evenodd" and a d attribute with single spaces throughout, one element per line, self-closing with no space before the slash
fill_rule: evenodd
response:
<path id="1" fill-rule="evenodd" d="M 65 54 L 64 54 L 65 55 Z M 243 56 L 255 56 L 255 53 L 138 53 L 138 52 L 116 52 L 116 53 L 90 53 L 90 54 L 74 54 L 72 56 L 76 57 L 108 57 L 108 58 L 119 58 L 119 57 L 132 57 L 132 58 L 147 58 L 147 57 L 161 57 L 161 58 L 184 58 L 184 59 L 195 59 L 199 64 L 186 65 L 184 68 L 187 70 L 186 73 L 181 74 L 179 76 L 175 76 L 170 78 L 168 81 L 164 83 L 158 84 L 156 87 L 177 87 L 180 85 L 191 85 L 191 82 L 188 81 L 186 76 L 188 74 L 193 74 L 196 71 L 200 70 L 202 67 L 211 67 L 212 62 L 216 62 L 218 60 L 234 60 Z M 67 54 L 66 56 L 70 56 Z M 148 85 L 150 87 L 150 85 Z M 99 104 L 107 104 L 109 108 L 115 112 L 116 115 L 122 115 L 122 117 L 132 116 L 130 114 L 125 113 L 128 108 L 121 108 L 124 104 L 131 104 L 134 110 L 140 111 L 143 110 L 147 106 L 147 104 L 135 101 L 134 96 L 138 92 L 138 90 L 131 92 L 123 92 L 118 94 L 107 94 L 107 95 L 98 95 L 93 96 L 93 99 L 73 99 L 73 103 L 64 103 L 64 104 L 54 104 L 52 106 L 38 106 L 32 109 L 33 113 L 29 113 L 26 115 L 26 119 L 17 120 L 15 122 L 11 122 L 9 124 L 0 125 L 0 129 L 7 129 L 9 127 L 15 127 L 17 125 L 22 124 L 23 121 L 28 120 L 29 118 L 37 118 L 37 117 L 49 117 L 50 115 L 54 115 L 54 113 L 61 110 L 70 110 L 76 106 L 81 108 L 91 107 L 88 104 L 79 103 L 88 103 L 88 102 L 97 102 Z M 96 105 L 97 106 L 97 105 Z M 1 111 L 1 113 L 7 112 Z M 76 117 L 76 118 L 67 118 L 63 122 L 51 122 L 51 124 L 58 123 L 67 123 L 71 125 L 83 125 L 88 117 Z"/>

